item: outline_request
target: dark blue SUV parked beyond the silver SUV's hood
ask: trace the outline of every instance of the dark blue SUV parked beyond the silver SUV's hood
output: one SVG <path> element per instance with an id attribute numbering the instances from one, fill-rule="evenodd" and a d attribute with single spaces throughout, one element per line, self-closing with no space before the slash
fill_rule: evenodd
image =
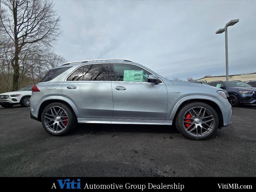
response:
<path id="1" fill-rule="evenodd" d="M 256 88 L 242 81 L 213 81 L 209 82 L 209 84 L 226 90 L 232 106 L 256 104 Z"/>

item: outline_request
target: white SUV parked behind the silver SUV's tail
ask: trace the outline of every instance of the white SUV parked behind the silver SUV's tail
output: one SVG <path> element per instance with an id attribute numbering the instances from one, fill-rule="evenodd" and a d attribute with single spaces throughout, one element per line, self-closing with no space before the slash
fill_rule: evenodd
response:
<path id="1" fill-rule="evenodd" d="M 1 93 L 0 94 L 0 105 L 2 107 L 8 108 L 13 105 L 20 104 L 23 107 L 30 106 L 30 96 L 32 95 L 33 86 L 26 86 L 18 91 Z"/>

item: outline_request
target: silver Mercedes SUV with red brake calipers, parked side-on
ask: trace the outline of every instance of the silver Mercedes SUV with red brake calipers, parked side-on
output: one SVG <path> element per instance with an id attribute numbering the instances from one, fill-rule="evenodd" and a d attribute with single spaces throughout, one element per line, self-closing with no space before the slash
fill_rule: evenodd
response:
<path id="1" fill-rule="evenodd" d="M 61 136 L 77 123 L 172 125 L 203 140 L 228 126 L 231 106 L 220 88 L 168 80 L 129 60 L 70 62 L 32 89 L 30 117 Z"/>

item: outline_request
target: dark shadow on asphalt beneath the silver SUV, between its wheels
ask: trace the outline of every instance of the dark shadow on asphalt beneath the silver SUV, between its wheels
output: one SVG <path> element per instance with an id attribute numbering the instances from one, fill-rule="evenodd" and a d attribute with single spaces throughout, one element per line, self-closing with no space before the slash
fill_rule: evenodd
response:
<path id="1" fill-rule="evenodd" d="M 79 124 L 71 134 L 103 134 L 103 132 L 130 133 L 180 133 L 175 126 L 122 125 L 122 124 Z"/>

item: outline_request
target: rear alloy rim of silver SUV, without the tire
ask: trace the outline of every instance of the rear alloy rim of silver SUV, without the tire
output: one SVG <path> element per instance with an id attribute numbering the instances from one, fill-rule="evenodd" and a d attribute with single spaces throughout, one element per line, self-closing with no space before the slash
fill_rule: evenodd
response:
<path id="1" fill-rule="evenodd" d="M 63 108 L 52 106 L 44 113 L 44 124 L 50 132 L 60 133 L 68 126 L 68 114 Z"/>

